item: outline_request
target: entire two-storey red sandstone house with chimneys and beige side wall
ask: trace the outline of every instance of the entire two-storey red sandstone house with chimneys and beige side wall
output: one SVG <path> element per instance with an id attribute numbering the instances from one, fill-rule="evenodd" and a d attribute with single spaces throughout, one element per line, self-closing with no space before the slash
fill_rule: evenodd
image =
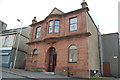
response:
<path id="1" fill-rule="evenodd" d="M 86 2 L 68 13 L 54 8 L 42 21 L 32 20 L 26 70 L 76 77 L 100 73 L 100 32 Z M 41 15 L 42 16 L 42 15 Z"/>

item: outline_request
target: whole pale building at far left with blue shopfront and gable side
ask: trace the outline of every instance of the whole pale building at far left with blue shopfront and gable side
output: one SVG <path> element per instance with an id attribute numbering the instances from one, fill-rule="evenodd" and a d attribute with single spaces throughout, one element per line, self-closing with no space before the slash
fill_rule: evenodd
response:
<path id="1" fill-rule="evenodd" d="M 0 56 L 2 56 L 2 67 L 12 68 L 15 62 L 15 68 L 24 68 L 25 66 L 27 55 L 26 43 L 29 41 L 30 27 L 23 27 L 21 34 L 19 34 L 20 30 L 21 28 L 17 28 L 0 32 Z"/>

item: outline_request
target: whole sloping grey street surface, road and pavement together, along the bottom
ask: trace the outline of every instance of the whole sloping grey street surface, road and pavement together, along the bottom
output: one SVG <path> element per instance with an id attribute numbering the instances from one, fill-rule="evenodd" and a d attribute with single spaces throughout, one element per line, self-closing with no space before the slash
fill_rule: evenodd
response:
<path id="1" fill-rule="evenodd" d="M 2 72 L 2 80 L 119 80 L 117 78 L 98 78 L 98 79 L 88 79 L 88 78 L 72 78 L 72 77 L 66 77 L 61 75 L 50 75 L 45 74 L 41 72 L 31 72 L 31 71 L 25 71 L 20 69 L 7 69 L 3 68 L 2 71 L 0 70 L 0 73 Z"/>

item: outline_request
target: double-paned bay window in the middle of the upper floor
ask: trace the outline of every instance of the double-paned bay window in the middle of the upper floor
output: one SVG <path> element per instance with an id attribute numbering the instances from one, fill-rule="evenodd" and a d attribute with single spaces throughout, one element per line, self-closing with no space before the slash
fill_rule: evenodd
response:
<path id="1" fill-rule="evenodd" d="M 54 20 L 49 22 L 49 33 L 59 33 L 60 21 Z"/>

